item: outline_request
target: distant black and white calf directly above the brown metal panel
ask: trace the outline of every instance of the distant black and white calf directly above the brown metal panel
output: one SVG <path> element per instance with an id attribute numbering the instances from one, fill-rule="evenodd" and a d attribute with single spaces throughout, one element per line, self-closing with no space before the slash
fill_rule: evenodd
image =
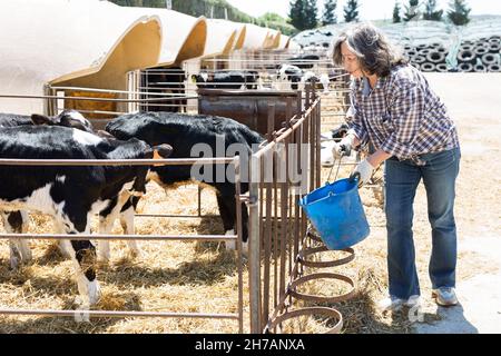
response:
<path id="1" fill-rule="evenodd" d="M 257 89 L 259 75 L 255 70 L 232 70 L 191 75 L 191 80 L 204 89 Z"/>

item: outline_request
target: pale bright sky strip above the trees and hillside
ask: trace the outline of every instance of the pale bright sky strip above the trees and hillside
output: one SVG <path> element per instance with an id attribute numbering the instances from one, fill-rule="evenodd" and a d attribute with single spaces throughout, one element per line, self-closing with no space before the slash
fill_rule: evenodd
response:
<path id="1" fill-rule="evenodd" d="M 276 12 L 283 17 L 288 14 L 291 0 L 227 0 L 239 10 L 259 17 L 266 12 Z M 451 0 L 438 0 L 439 9 L 448 9 Z M 318 0 L 318 9 L 323 9 L 324 0 Z M 347 0 L 337 0 L 336 16 L 343 19 L 343 8 Z M 407 0 L 400 0 L 401 4 L 407 4 Z M 358 0 L 361 20 L 391 19 L 395 0 Z M 472 9 L 470 14 L 501 14 L 500 0 L 469 0 L 468 6 Z M 402 8 L 402 7 L 401 7 Z"/>

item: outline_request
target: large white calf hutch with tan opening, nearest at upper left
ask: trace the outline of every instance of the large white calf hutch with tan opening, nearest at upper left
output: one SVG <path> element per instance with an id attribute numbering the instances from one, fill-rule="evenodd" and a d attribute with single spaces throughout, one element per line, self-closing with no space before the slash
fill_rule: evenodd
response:
<path id="1" fill-rule="evenodd" d="M 97 0 L 0 1 L 0 93 L 42 95 L 48 82 L 98 72 L 117 51 L 124 70 L 157 62 L 159 18 L 120 9 Z M 42 108 L 40 99 L 0 98 L 2 112 Z"/>

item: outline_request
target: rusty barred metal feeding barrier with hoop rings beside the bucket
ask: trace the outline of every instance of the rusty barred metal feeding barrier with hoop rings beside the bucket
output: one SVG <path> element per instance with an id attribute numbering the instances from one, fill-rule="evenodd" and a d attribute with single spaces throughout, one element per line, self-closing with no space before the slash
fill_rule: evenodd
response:
<path id="1" fill-rule="evenodd" d="M 249 303 L 250 332 L 276 333 L 286 320 L 301 316 L 323 315 L 331 318 L 328 333 L 338 333 L 342 315 L 333 307 L 295 308 L 294 300 L 347 300 L 353 296 L 354 281 L 340 274 L 305 275 L 307 256 L 326 249 L 314 248 L 318 239 L 308 229 L 306 216 L 297 205 L 298 197 L 320 187 L 320 129 L 321 98 L 314 90 L 306 91 L 305 111 L 302 106 L 287 106 L 291 119 L 281 130 L 274 130 L 275 106 L 268 108 L 267 144 L 250 160 L 249 184 Z M 296 150 L 289 150 L 289 147 Z M 303 151 L 305 150 L 305 151 Z M 301 162 L 306 158 L 306 164 Z M 285 167 L 281 172 L 279 167 Z M 291 174 L 299 168 L 299 175 Z M 303 171 L 304 169 L 304 171 Z M 315 243 L 317 244 L 317 243 Z M 317 247 L 317 246 L 315 246 Z M 351 257 L 328 264 L 340 266 Z M 326 264 L 308 265 L 323 268 Z M 321 297 L 299 291 L 299 287 L 314 279 L 335 279 L 351 286 L 341 296 Z"/>

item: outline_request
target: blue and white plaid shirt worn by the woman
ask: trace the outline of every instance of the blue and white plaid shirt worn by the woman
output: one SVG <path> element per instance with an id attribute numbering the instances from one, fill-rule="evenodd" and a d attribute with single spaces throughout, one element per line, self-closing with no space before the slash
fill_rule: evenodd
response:
<path id="1" fill-rule="evenodd" d="M 410 65 L 394 67 L 373 89 L 366 78 L 355 79 L 350 97 L 348 132 L 362 145 L 371 141 L 376 149 L 418 165 L 424 165 L 420 155 L 459 147 L 445 106 Z"/>

